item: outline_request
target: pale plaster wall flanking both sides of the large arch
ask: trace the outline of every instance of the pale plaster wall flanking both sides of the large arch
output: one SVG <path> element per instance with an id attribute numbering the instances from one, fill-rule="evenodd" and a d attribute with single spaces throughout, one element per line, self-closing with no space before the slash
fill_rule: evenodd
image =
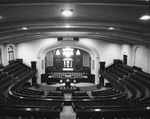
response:
<path id="1" fill-rule="evenodd" d="M 16 57 L 22 58 L 25 63 L 30 65 L 31 61 L 37 60 L 37 53 L 42 47 L 54 42 L 57 42 L 55 38 L 19 43 L 16 45 Z M 106 65 L 112 63 L 113 59 L 122 58 L 122 46 L 120 44 L 86 38 L 81 38 L 80 42 L 92 45 L 98 51 L 100 61 L 106 61 Z"/>

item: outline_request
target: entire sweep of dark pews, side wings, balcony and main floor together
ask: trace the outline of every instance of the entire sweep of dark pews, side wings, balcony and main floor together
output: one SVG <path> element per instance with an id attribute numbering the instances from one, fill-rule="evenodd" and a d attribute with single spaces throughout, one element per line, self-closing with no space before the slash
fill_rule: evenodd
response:
<path id="1" fill-rule="evenodd" d="M 150 74 L 124 64 L 100 72 L 113 87 L 74 91 L 46 91 L 23 84 L 36 75 L 30 67 L 13 62 L 0 72 L 0 119 L 59 119 L 65 104 L 76 119 L 149 119 Z M 70 103 L 68 103 L 70 102 Z"/>

